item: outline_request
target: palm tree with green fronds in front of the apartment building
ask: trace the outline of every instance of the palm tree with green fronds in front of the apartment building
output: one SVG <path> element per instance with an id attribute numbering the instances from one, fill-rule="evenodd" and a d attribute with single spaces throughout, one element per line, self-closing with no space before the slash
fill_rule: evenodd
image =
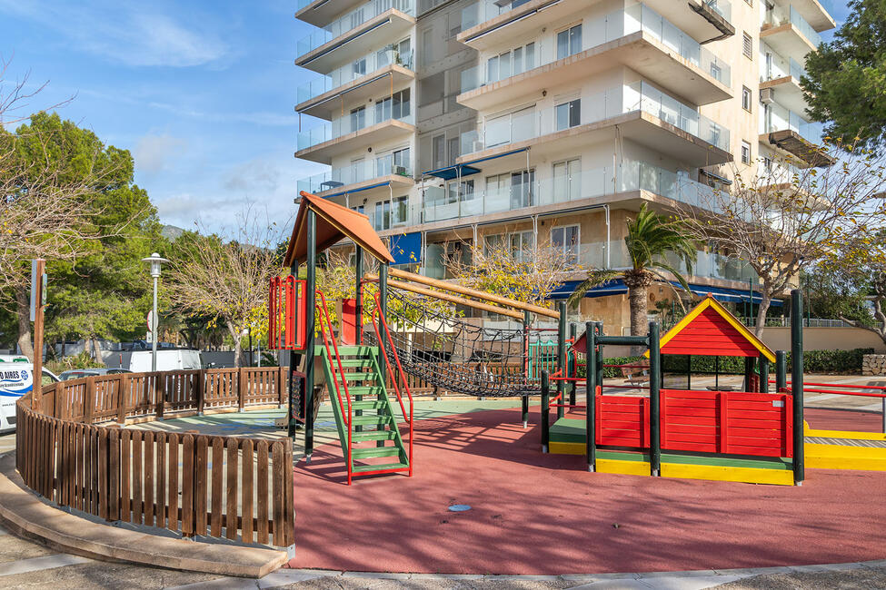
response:
<path id="1" fill-rule="evenodd" d="M 699 242 L 684 230 L 681 220 L 669 220 L 643 203 L 637 217 L 628 220 L 628 234 L 624 237 L 628 255 L 631 257 L 631 268 L 590 270 L 587 278 L 572 291 L 569 305 L 578 307 L 585 293 L 592 288 L 610 280 L 622 279 L 628 288 L 628 301 L 631 304 L 631 333 L 634 336 L 645 336 L 649 332 L 648 291 L 652 281 L 660 279 L 668 282 L 662 274 L 662 271 L 668 271 L 684 290 L 689 291 L 686 279 L 665 260 L 667 254 L 676 254 L 678 259 L 686 263 L 686 268 L 692 270 Z"/>

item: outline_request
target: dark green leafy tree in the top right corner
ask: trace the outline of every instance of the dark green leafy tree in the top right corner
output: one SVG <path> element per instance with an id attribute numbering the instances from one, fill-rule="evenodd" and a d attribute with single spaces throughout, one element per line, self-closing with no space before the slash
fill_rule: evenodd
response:
<path id="1" fill-rule="evenodd" d="M 830 43 L 806 57 L 801 85 L 816 121 L 830 122 L 826 133 L 851 146 L 886 141 L 886 5 L 882 0 L 850 0 L 850 15 Z"/>

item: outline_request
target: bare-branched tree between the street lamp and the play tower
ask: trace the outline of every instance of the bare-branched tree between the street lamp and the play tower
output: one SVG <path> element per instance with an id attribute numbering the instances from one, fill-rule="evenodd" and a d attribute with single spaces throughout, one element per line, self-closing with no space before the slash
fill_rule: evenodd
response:
<path id="1" fill-rule="evenodd" d="M 245 211 L 234 240 L 192 233 L 179 238 L 170 255 L 168 292 L 175 309 L 224 322 L 236 367 L 244 330 L 255 321 L 256 309 L 267 309 L 270 280 L 282 270 L 275 238 L 273 226 Z"/>

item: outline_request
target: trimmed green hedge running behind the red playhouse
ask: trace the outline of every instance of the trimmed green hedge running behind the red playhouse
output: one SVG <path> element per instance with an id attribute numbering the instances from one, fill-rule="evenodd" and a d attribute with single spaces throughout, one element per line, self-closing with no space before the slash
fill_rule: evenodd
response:
<path id="1" fill-rule="evenodd" d="M 806 350 L 803 352 L 803 370 L 806 373 L 861 373 L 861 359 L 866 354 L 873 354 L 873 349 L 851 350 Z M 642 357 L 612 357 L 603 359 L 604 365 L 629 365 L 638 362 Z M 787 354 L 788 370 L 791 370 L 791 353 Z M 670 373 L 686 371 L 686 357 L 682 355 L 663 355 L 662 368 Z M 584 355 L 579 356 L 578 375 L 584 377 Z M 714 357 L 692 357 L 692 373 L 713 373 Z M 740 357 L 720 357 L 719 369 L 722 375 L 744 374 L 744 359 Z M 770 366 L 770 374 L 775 374 L 775 367 Z M 603 369 L 603 377 L 614 379 L 622 377 L 622 371 L 614 367 Z"/>

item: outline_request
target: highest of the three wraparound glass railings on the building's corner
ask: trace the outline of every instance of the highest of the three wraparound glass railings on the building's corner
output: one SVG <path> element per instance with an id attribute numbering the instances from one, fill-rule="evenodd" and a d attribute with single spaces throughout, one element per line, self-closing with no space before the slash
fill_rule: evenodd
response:
<path id="1" fill-rule="evenodd" d="M 485 84 L 493 84 L 513 75 L 523 74 L 568 55 L 586 51 L 639 31 L 651 35 L 674 53 L 710 74 L 715 80 L 726 86 L 730 85 L 732 72 L 729 64 L 702 47 L 649 6 L 638 4 L 582 25 L 582 43 L 577 44 L 574 51 L 564 51 L 555 37 L 545 37 L 537 43 L 516 47 L 511 54 L 502 54 L 487 60 L 485 64 L 469 68 L 462 73 L 462 92 L 466 93 Z"/>

